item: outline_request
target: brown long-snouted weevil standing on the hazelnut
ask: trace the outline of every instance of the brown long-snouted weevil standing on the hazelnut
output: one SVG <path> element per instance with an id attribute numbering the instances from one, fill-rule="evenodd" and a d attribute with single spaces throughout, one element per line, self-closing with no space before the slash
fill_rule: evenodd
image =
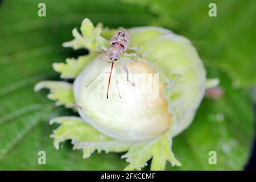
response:
<path id="1" fill-rule="evenodd" d="M 137 53 L 126 53 L 125 51 L 127 49 L 140 51 L 140 49 L 139 49 L 139 47 L 129 47 L 129 44 L 130 44 L 130 32 L 126 29 L 121 29 L 121 30 L 118 30 L 110 39 L 109 49 L 106 48 L 105 46 L 101 46 L 99 49 L 100 51 L 105 51 L 108 53 L 108 55 L 101 57 L 101 60 L 106 60 L 106 59 L 110 58 L 111 63 L 112 63 L 111 69 L 109 72 L 110 73 L 109 74 L 109 82 L 108 82 L 108 89 L 107 89 L 107 94 L 106 94 L 107 99 L 109 98 L 109 85 L 110 85 L 110 80 L 111 80 L 111 76 L 112 76 L 114 61 L 117 61 L 118 59 L 120 59 L 122 61 L 123 69 L 125 70 L 126 75 L 127 75 L 126 80 L 131 82 L 129 80 L 129 71 L 127 69 L 126 64 L 123 62 L 124 58 L 122 58 L 122 55 L 129 56 L 129 57 L 131 57 L 130 60 L 136 61 L 135 57 L 137 57 Z M 95 80 L 95 78 L 93 80 Z M 133 86 L 135 86 L 135 84 L 133 82 L 131 82 L 131 84 Z"/>

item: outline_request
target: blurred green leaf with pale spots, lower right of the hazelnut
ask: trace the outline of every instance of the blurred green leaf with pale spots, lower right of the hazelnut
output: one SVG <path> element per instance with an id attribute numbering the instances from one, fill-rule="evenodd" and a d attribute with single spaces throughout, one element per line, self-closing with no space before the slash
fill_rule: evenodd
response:
<path id="1" fill-rule="evenodd" d="M 181 167 L 175 170 L 241 170 L 245 167 L 254 136 L 253 102 L 249 94 L 233 88 L 225 73 L 220 78 L 224 96 L 203 100 L 191 126 L 173 139 L 173 150 Z M 216 151 L 217 164 L 210 165 L 209 152 Z"/>

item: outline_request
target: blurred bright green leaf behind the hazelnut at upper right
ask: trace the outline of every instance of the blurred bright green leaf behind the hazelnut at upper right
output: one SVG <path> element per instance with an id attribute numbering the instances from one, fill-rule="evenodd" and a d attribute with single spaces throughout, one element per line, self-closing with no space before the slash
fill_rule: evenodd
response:
<path id="1" fill-rule="evenodd" d="M 204 64 L 226 72 L 234 85 L 256 85 L 256 54 L 252 49 L 256 39 L 256 1 L 121 1 L 148 7 L 157 15 L 154 26 L 186 36 L 199 49 Z M 216 17 L 208 15 L 211 2 L 216 3 Z"/>

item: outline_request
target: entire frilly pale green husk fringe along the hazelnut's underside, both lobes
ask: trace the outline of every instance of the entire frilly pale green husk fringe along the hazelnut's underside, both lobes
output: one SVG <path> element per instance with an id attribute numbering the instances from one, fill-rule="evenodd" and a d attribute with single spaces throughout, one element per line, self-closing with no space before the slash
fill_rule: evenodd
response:
<path id="1" fill-rule="evenodd" d="M 181 165 L 171 151 L 171 139 L 168 135 L 152 141 L 133 144 L 106 137 L 79 117 L 53 118 L 50 123 L 60 124 L 51 135 L 51 138 L 54 139 L 55 148 L 59 149 L 61 142 L 70 139 L 72 140 L 73 149 L 82 149 L 84 158 L 89 158 L 96 150 L 99 153 L 101 151 L 108 153 L 123 152 L 130 148 L 127 154 L 122 156 L 122 158 L 127 158 L 126 161 L 130 163 L 125 168 L 126 170 L 140 170 L 151 158 L 153 158 L 152 170 L 163 170 L 166 166 L 166 161 L 170 161 L 173 166 Z"/>

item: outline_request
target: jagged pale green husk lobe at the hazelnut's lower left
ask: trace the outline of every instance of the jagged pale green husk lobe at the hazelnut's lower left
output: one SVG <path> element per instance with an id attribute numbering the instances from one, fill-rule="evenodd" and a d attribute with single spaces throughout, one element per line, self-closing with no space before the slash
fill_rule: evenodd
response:
<path id="1" fill-rule="evenodd" d="M 123 152 L 127 151 L 131 143 L 120 142 L 106 137 L 100 132 L 93 129 L 91 126 L 82 121 L 78 117 L 60 117 L 53 118 L 50 121 L 51 124 L 61 124 L 56 130 L 53 131 L 51 138 L 54 139 L 55 148 L 59 149 L 60 142 L 71 139 L 74 149 L 82 149 L 84 152 L 84 158 L 94 152 Z"/>

